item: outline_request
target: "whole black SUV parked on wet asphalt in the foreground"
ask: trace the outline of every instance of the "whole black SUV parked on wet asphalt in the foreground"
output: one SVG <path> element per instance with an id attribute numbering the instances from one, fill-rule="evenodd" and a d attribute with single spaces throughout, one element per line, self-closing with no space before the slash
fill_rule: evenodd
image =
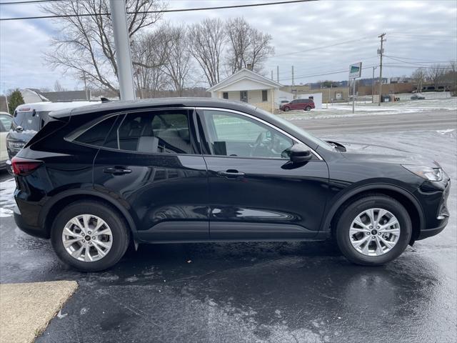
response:
<path id="1" fill-rule="evenodd" d="M 379 265 L 448 222 L 436 162 L 363 154 L 255 107 L 216 99 L 51 112 L 12 160 L 16 224 L 85 271 L 129 242 L 323 240 Z"/>

